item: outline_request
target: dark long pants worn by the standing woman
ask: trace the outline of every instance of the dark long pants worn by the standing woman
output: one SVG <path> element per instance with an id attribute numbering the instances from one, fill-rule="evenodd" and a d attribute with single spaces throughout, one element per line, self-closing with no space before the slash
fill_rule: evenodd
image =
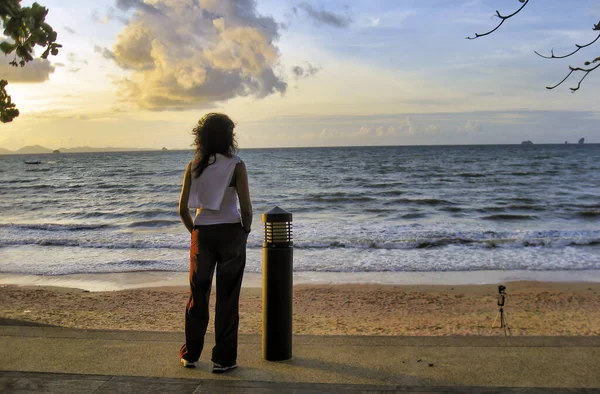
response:
<path id="1" fill-rule="evenodd" d="M 185 313 L 185 345 L 179 356 L 197 361 L 208 327 L 209 298 L 215 267 L 217 302 L 212 361 L 237 360 L 239 300 L 246 265 L 246 233 L 240 223 L 196 226 L 190 246 L 190 298 Z"/>

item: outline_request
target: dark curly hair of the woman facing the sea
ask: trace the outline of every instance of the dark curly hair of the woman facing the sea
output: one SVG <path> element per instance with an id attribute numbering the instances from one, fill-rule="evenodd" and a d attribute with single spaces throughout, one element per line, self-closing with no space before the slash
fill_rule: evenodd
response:
<path id="1" fill-rule="evenodd" d="M 229 116 L 211 112 L 198 121 L 192 133 L 196 157 L 192 166 L 194 178 L 198 178 L 206 167 L 213 164 L 216 154 L 231 157 L 237 152 L 233 129 L 235 124 Z"/>

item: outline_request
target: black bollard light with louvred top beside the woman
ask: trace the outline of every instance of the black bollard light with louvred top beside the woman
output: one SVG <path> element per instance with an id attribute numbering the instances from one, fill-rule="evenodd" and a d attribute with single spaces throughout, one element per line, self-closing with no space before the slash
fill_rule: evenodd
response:
<path id="1" fill-rule="evenodd" d="M 262 214 L 262 222 L 262 356 L 282 361 L 292 358 L 292 214 L 275 207 Z"/>

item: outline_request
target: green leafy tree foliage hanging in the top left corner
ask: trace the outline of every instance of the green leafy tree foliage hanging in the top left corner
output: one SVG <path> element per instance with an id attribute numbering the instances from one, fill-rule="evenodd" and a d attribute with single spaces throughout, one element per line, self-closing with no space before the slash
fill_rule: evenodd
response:
<path id="1" fill-rule="evenodd" d="M 62 45 L 56 43 L 57 33 L 46 23 L 48 9 L 38 3 L 21 7 L 21 0 L 0 0 L 0 20 L 3 22 L 4 40 L 0 51 L 5 56 L 14 56 L 9 62 L 13 67 L 24 67 L 33 61 L 35 47 L 45 48 L 40 56 L 47 59 L 57 55 Z M 5 90 L 8 81 L 0 80 L 0 121 L 11 122 L 19 116 L 19 110 Z"/>

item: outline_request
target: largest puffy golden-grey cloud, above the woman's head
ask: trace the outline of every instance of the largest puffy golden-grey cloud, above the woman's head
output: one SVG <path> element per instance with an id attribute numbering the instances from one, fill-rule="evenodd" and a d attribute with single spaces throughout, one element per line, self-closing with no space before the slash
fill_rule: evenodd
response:
<path id="1" fill-rule="evenodd" d="M 287 90 L 275 73 L 279 26 L 254 0 L 119 0 L 117 7 L 134 12 L 112 51 L 95 50 L 132 71 L 117 86 L 138 107 L 197 108 Z"/>

